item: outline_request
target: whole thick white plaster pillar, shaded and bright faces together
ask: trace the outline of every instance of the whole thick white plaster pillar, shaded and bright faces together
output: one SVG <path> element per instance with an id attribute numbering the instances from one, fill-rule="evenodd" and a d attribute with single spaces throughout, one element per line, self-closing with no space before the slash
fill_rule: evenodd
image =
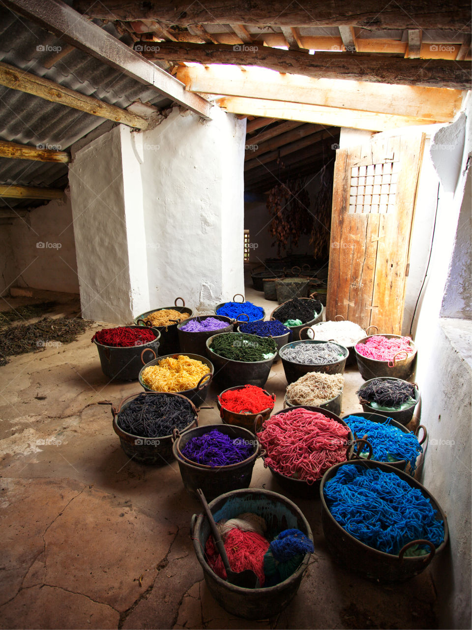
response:
<path id="1" fill-rule="evenodd" d="M 200 312 L 244 291 L 245 121 L 174 108 L 74 154 L 69 181 L 84 316 L 125 323 L 177 296 Z"/>

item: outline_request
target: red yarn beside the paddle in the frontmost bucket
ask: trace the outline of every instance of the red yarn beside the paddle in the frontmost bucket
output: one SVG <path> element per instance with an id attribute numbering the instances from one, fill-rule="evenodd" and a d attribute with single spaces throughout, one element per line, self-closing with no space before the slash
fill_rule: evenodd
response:
<path id="1" fill-rule="evenodd" d="M 261 587 L 264 586 L 266 581 L 264 556 L 269 549 L 269 541 L 266 541 L 264 536 L 257 532 L 242 532 L 234 527 L 225 537 L 225 549 L 232 571 L 240 573 L 245 569 L 251 569 L 259 578 Z M 216 575 L 226 580 L 226 570 L 212 536 L 209 536 L 206 541 L 205 553 L 210 568 Z"/>

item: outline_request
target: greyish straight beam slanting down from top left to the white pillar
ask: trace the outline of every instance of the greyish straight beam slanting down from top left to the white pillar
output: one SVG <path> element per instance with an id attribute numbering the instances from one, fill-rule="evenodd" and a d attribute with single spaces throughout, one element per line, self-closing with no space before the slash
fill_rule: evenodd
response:
<path id="1" fill-rule="evenodd" d="M 4 0 L 4 5 L 54 33 L 63 42 L 96 57 L 139 83 L 151 86 L 184 108 L 210 118 L 211 105 L 208 101 L 187 92 L 171 74 L 143 59 L 138 52 L 60 0 Z M 156 19 L 159 21 L 159 17 Z"/>

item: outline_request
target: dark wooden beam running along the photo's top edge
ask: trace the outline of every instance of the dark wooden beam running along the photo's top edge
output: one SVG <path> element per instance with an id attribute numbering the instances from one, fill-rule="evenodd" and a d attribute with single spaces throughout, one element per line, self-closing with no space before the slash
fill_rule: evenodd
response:
<path id="1" fill-rule="evenodd" d="M 454 4 L 442 0 L 205 0 L 205 3 L 158 0 L 76 0 L 74 7 L 93 18 L 106 20 L 160 20 L 166 25 L 247 24 L 256 26 L 361 26 L 371 29 L 447 28 L 460 30 L 471 19 L 465 0 Z"/>

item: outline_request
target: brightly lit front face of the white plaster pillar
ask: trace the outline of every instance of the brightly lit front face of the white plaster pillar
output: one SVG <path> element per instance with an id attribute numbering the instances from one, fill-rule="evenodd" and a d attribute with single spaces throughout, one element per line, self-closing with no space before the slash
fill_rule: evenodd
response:
<path id="1" fill-rule="evenodd" d="M 211 115 L 176 107 L 139 134 L 149 308 L 181 296 L 211 312 L 244 293 L 245 121 L 217 107 Z"/>

